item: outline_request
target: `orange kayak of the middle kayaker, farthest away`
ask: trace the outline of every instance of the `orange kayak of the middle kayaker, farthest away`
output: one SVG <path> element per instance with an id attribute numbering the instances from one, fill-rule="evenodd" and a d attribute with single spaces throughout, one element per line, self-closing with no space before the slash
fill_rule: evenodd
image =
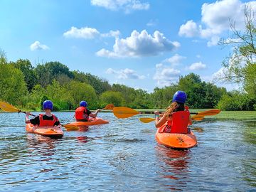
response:
<path id="1" fill-rule="evenodd" d="M 68 124 L 65 124 L 65 128 L 67 130 L 75 130 L 75 129 L 79 129 L 79 127 L 86 127 L 86 126 L 90 126 L 90 125 L 97 125 L 97 124 L 107 124 L 110 121 L 107 121 L 105 119 L 102 118 L 91 118 L 89 120 L 89 122 L 70 122 Z"/>

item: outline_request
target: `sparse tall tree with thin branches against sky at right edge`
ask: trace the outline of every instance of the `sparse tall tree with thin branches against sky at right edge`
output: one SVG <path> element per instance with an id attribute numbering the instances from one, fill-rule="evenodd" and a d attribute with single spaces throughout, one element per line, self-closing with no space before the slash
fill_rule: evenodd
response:
<path id="1" fill-rule="evenodd" d="M 221 46 L 232 46 L 231 53 L 224 61 L 220 80 L 240 82 L 251 97 L 256 98 L 256 28 L 255 11 L 245 7 L 245 30 L 238 30 L 235 21 L 230 22 L 231 36 L 220 40 Z"/>

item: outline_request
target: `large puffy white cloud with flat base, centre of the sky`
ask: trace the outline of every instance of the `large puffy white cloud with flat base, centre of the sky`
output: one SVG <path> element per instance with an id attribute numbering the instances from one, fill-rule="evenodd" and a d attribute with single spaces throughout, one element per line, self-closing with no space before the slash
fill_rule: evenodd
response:
<path id="1" fill-rule="evenodd" d="M 153 36 L 146 30 L 139 33 L 134 30 L 127 38 L 116 38 L 113 50 L 103 48 L 96 55 L 108 58 L 142 57 L 158 55 L 164 51 L 171 51 L 180 46 L 178 42 L 169 41 L 163 33 L 155 31 Z"/>

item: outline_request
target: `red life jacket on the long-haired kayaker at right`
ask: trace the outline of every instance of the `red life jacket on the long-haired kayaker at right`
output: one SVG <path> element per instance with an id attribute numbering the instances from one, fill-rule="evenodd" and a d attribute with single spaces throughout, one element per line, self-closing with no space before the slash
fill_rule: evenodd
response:
<path id="1" fill-rule="evenodd" d="M 189 111 L 178 111 L 172 113 L 172 120 L 167 121 L 164 132 L 168 133 L 188 133 Z"/>

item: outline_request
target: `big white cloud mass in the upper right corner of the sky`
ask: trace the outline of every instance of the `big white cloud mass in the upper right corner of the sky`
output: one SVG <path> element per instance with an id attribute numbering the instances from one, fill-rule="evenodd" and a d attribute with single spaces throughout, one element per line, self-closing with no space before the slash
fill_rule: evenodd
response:
<path id="1" fill-rule="evenodd" d="M 211 4 L 205 3 L 201 7 L 201 24 L 193 20 L 187 21 L 181 25 L 178 34 L 210 39 L 208 46 L 215 46 L 218 43 L 218 36 L 230 29 L 230 21 L 235 21 L 238 30 L 245 28 L 245 6 L 251 6 L 252 10 L 256 11 L 256 1 L 242 3 L 239 0 L 223 0 Z"/>

